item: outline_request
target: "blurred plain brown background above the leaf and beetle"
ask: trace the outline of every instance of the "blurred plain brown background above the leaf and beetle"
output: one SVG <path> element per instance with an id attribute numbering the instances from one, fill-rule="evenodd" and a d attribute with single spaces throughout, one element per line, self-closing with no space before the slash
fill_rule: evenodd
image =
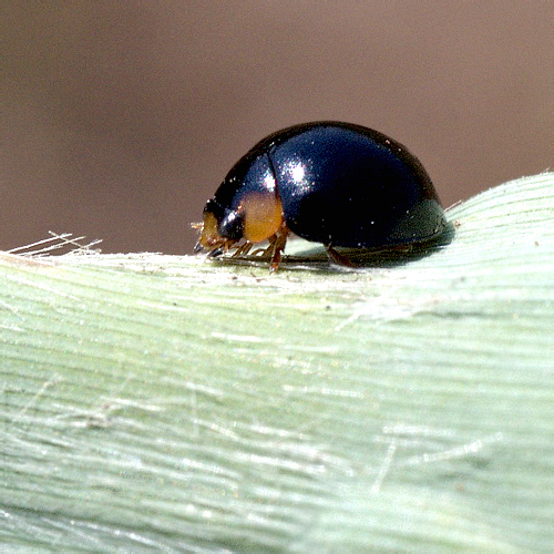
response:
<path id="1" fill-rule="evenodd" d="M 356 122 L 444 205 L 554 165 L 554 2 L 0 0 L 0 248 L 186 253 L 266 134 Z"/>

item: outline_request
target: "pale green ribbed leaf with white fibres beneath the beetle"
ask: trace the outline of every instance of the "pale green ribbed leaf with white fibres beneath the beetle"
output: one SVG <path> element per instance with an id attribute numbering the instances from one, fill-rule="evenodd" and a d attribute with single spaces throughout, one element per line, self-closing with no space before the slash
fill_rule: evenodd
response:
<path id="1" fill-rule="evenodd" d="M 0 543 L 554 551 L 554 173 L 448 218 L 355 270 L 0 255 Z"/>

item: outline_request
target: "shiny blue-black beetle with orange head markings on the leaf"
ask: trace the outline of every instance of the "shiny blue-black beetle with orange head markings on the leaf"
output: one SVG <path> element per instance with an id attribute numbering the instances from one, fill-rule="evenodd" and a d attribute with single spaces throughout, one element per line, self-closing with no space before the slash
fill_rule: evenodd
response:
<path id="1" fill-rule="evenodd" d="M 266 136 L 229 171 L 204 207 L 195 253 L 232 248 L 264 255 L 279 266 L 290 233 L 335 247 L 382 249 L 425 243 L 444 228 L 431 178 L 406 146 L 352 123 L 318 121 Z M 244 240 L 243 240 L 244 239 Z"/>

